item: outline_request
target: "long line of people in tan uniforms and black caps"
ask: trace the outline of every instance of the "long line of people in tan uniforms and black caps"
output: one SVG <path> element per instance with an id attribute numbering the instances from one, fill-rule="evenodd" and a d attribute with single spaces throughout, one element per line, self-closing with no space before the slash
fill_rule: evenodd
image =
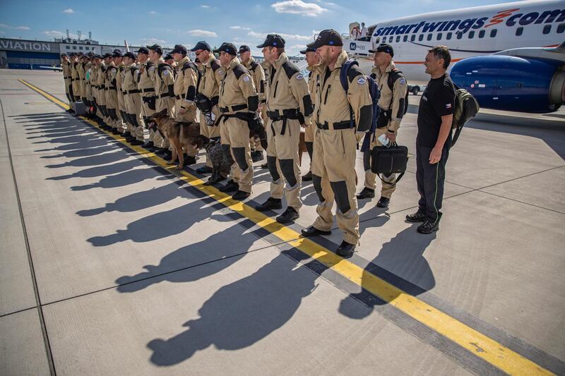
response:
<path id="1" fill-rule="evenodd" d="M 357 198 L 371 197 L 375 188 L 375 176 L 366 165 L 365 188 L 355 195 L 356 145 L 371 128 L 373 116 L 367 79 L 352 66 L 347 72 L 347 90 L 342 86 L 340 69 L 347 54 L 335 30 L 323 30 L 301 51 L 309 64 L 308 80 L 289 61 L 280 35 L 268 35 L 257 47 L 265 57 L 262 64 L 254 61 L 249 47 L 238 51 L 233 44 L 223 43 L 212 51 L 206 42 L 191 49 L 196 63 L 181 45 L 163 59 L 157 44 L 141 47 L 137 54 L 116 50 L 104 56 L 62 55 L 61 60 L 70 104 L 81 99 L 90 109 L 89 116 L 100 118 L 114 133 L 123 133 L 133 145 L 141 145 L 143 133 L 148 131 L 145 147 L 170 153 L 170 145 L 156 128 L 144 129 L 148 116 L 163 109 L 177 121 L 200 123 L 201 135 L 220 140 L 232 166 L 229 180 L 220 190 L 233 193 L 235 200 L 251 195 L 253 162 L 263 159 L 260 143 L 249 138 L 249 129 L 258 126 L 260 116 L 268 138 L 266 167 L 271 183 L 270 197 L 256 209 L 282 209 L 284 196 L 287 208 L 277 217 L 283 224 L 297 219 L 302 207 L 299 138 L 304 128 L 311 159 L 311 172 L 304 180 L 313 181 L 320 202 L 318 218 L 302 234 L 330 234 L 335 202 L 338 226 L 344 234 L 336 252 L 351 255 L 359 241 Z M 382 93 L 379 106 L 392 114 L 376 136 L 387 133 L 394 140 L 403 115 L 399 108 L 403 106 L 400 98 L 404 100 L 405 80 L 397 80 L 388 89 L 383 83 L 394 70 L 392 47 L 379 47 L 374 52 L 374 73 Z M 383 59 L 383 54 L 390 57 Z M 379 145 L 374 135 L 372 144 Z M 196 162 L 197 152 L 189 150 L 187 164 Z M 211 172 L 210 161 L 196 171 Z M 394 178 L 385 177 L 379 206 L 388 205 L 394 186 L 387 182 L 393 183 Z"/>

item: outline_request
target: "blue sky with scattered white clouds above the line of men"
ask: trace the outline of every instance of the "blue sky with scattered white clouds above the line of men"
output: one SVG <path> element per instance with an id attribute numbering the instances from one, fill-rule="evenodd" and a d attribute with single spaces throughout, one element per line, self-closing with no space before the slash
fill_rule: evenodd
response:
<path id="1" fill-rule="evenodd" d="M 418 13 L 498 4 L 494 0 L 238 0 L 238 1 L 14 1 L 0 0 L 0 37 L 53 40 L 81 30 L 101 44 L 160 44 L 187 48 L 247 44 L 261 55 L 266 35 L 276 32 L 293 56 L 319 30 L 347 32 L 351 22 L 367 25 Z"/>

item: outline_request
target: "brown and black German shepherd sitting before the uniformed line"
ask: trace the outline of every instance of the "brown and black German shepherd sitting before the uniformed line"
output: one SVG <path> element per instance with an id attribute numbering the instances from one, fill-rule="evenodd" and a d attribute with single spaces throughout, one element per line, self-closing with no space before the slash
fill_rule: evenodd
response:
<path id="1" fill-rule="evenodd" d="M 148 126 L 155 124 L 157 129 L 169 140 L 172 147 L 171 160 L 167 164 L 174 164 L 179 159 L 177 170 L 184 167 L 184 153 L 196 147 L 201 149 L 203 141 L 198 138 L 200 126 L 197 123 L 181 123 L 172 119 L 164 109 L 147 119 Z"/>

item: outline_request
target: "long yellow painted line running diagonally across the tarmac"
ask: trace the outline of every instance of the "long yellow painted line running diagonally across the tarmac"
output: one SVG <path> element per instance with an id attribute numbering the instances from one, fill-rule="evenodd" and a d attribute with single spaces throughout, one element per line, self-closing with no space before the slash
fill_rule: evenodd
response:
<path id="1" fill-rule="evenodd" d="M 64 102 L 61 102 L 59 99 L 49 95 L 40 88 L 35 87 L 24 80 L 20 80 L 20 82 L 27 85 L 32 90 L 39 92 L 44 97 L 47 97 L 53 102 L 59 104 L 61 107 L 69 108 L 67 104 L 64 104 Z M 88 121 L 88 123 L 93 126 L 98 126 L 95 121 L 90 121 L 82 116 L 81 118 Z M 170 166 L 167 165 L 165 160 L 157 157 L 155 154 L 148 152 L 142 147 L 129 145 L 124 138 L 117 135 L 113 135 L 112 133 L 107 134 L 112 135 L 112 137 L 119 142 L 124 143 L 131 149 L 136 150 L 136 152 L 139 152 L 145 157 L 153 160 L 153 162 L 159 166 L 169 169 Z M 387 281 L 367 272 L 367 270 L 362 267 L 359 267 L 352 262 L 345 260 L 343 257 L 336 255 L 322 245 L 314 243 L 314 241 L 311 241 L 309 238 L 299 238 L 300 234 L 296 231 L 279 224 L 271 217 L 267 217 L 265 214 L 256 211 L 253 207 L 246 205 L 244 202 L 232 200 L 230 195 L 220 192 L 220 190 L 213 186 L 204 186 L 204 182 L 201 179 L 196 178 L 196 176 L 193 176 L 184 170 L 170 172 L 179 176 L 179 178 L 186 181 L 186 183 L 190 186 L 193 186 L 194 188 L 201 190 L 203 193 L 206 193 L 206 195 L 215 198 L 215 200 L 221 202 L 223 205 L 230 208 L 230 210 L 250 219 L 258 226 L 261 226 L 263 229 L 266 229 L 271 234 L 280 238 L 280 240 L 290 243 L 293 247 L 298 248 L 314 260 L 326 265 L 326 267 L 337 272 L 342 277 L 349 279 L 358 286 L 361 286 L 363 289 L 369 291 L 375 296 L 378 296 L 383 301 L 386 301 L 386 303 L 394 305 L 398 308 L 398 310 L 402 311 L 406 315 L 421 322 L 442 336 L 445 336 L 459 346 L 470 351 L 470 353 L 475 356 L 494 365 L 496 368 L 499 368 L 511 375 L 553 375 L 549 370 L 533 363 L 533 361 L 521 356 L 515 351 L 512 351 L 510 348 L 499 344 L 499 342 L 494 341 L 494 339 L 489 338 L 489 336 L 486 336 L 472 327 L 463 324 L 463 322 L 441 312 L 441 310 L 434 308 L 432 305 L 421 301 L 415 296 L 398 289 L 396 286 L 389 284 Z"/>

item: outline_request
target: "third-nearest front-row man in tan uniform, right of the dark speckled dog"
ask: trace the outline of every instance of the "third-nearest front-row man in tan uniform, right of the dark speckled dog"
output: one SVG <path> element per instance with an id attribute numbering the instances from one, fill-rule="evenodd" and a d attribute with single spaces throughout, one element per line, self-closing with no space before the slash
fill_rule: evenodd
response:
<path id="1" fill-rule="evenodd" d="M 256 116 L 259 96 L 251 74 L 237 59 L 237 49 L 233 44 L 222 43 L 214 52 L 220 54 L 220 63 L 225 70 L 218 102 L 221 113 L 218 119 L 220 138 L 226 157 L 232 162 L 232 179 L 220 190 L 236 191 L 232 198 L 244 200 L 251 195 L 253 182 L 249 122 Z"/>

